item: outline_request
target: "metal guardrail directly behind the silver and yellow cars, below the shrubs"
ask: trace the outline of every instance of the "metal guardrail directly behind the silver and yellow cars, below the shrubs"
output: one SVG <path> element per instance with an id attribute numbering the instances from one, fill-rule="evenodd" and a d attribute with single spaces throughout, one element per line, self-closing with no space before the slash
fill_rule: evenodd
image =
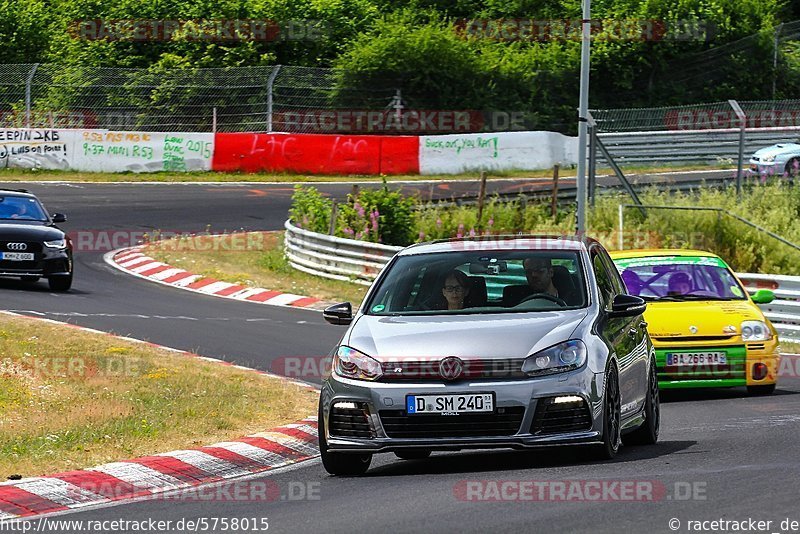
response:
<path id="1" fill-rule="evenodd" d="M 368 243 L 318 234 L 284 223 L 284 247 L 289 264 L 300 271 L 357 284 L 369 285 L 389 260 L 403 247 Z M 800 276 L 736 273 L 745 288 L 754 293 L 770 289 L 775 300 L 760 304 L 764 315 L 784 341 L 800 343 Z"/>

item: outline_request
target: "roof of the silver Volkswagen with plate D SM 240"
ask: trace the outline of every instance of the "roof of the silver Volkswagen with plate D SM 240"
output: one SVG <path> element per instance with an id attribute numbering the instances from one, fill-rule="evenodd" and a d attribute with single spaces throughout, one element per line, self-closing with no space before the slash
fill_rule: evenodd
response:
<path id="1" fill-rule="evenodd" d="M 490 252 L 494 250 L 580 251 L 588 248 L 592 243 L 597 243 L 597 241 L 589 237 L 574 235 L 477 236 L 418 243 L 404 248 L 398 255 L 411 256 L 437 252 Z"/>

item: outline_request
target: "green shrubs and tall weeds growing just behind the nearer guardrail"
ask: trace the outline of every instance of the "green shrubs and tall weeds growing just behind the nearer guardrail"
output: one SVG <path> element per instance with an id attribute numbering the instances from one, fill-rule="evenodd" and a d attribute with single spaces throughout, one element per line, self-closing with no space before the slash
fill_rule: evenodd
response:
<path id="1" fill-rule="evenodd" d="M 746 187 L 738 202 L 732 188 L 701 189 L 671 194 L 649 189 L 642 202 L 670 207 L 720 207 L 744 217 L 793 243 L 800 243 L 800 186 L 782 183 Z M 588 234 L 609 249 L 619 240 L 618 206 L 630 204 L 625 195 L 605 195 L 588 213 Z M 327 233 L 332 202 L 312 187 L 297 186 L 292 202 L 293 222 Z M 554 219 L 549 202 L 503 202 L 490 198 L 478 220 L 475 206 L 416 204 L 414 197 L 390 191 L 362 190 L 339 206 L 336 235 L 389 245 L 469 237 L 530 233 L 574 232 L 574 209 L 560 208 Z M 800 251 L 759 232 L 733 217 L 715 211 L 649 209 L 625 210 L 623 248 L 698 248 L 722 256 L 743 272 L 797 274 Z"/>

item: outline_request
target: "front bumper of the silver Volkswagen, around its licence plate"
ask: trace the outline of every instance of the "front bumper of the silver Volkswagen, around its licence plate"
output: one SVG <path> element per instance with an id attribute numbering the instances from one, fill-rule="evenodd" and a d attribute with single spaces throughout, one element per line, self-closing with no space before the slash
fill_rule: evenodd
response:
<path id="1" fill-rule="evenodd" d="M 596 443 L 602 391 L 603 373 L 584 367 L 513 381 L 387 383 L 333 375 L 320 398 L 328 450 L 377 453 Z M 469 393 L 492 393 L 494 411 L 409 415 L 405 409 L 406 395 Z"/>

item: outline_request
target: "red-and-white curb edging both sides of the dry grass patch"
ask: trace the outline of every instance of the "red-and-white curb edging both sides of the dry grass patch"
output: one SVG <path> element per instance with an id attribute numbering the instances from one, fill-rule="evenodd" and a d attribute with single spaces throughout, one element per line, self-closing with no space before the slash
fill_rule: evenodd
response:
<path id="1" fill-rule="evenodd" d="M 135 338 L 116 336 L 93 328 L 7 311 L 0 313 L 144 343 L 170 352 L 287 380 L 285 377 L 258 369 L 234 365 Z M 296 380 L 288 381 L 317 390 L 317 387 L 311 384 Z M 0 482 L 0 522 L 104 505 L 124 499 L 154 497 L 164 492 L 197 488 L 204 484 L 285 467 L 317 456 L 319 456 L 317 418 L 314 416 L 270 431 L 195 449 L 143 456 L 55 475 Z"/>

